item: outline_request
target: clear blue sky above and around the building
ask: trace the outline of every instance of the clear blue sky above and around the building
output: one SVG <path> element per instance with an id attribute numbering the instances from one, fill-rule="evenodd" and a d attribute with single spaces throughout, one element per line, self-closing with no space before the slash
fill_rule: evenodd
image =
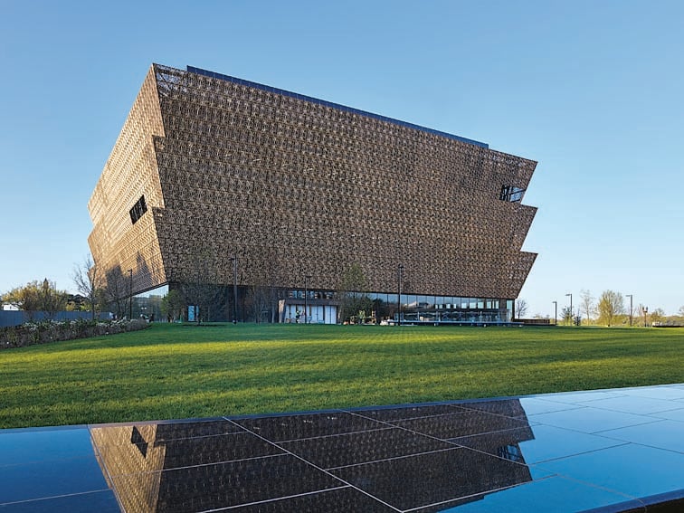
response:
<path id="1" fill-rule="evenodd" d="M 71 290 L 90 193 L 152 62 L 538 161 L 529 315 L 612 289 L 684 305 L 684 3 L 0 0 L 0 291 Z"/>

